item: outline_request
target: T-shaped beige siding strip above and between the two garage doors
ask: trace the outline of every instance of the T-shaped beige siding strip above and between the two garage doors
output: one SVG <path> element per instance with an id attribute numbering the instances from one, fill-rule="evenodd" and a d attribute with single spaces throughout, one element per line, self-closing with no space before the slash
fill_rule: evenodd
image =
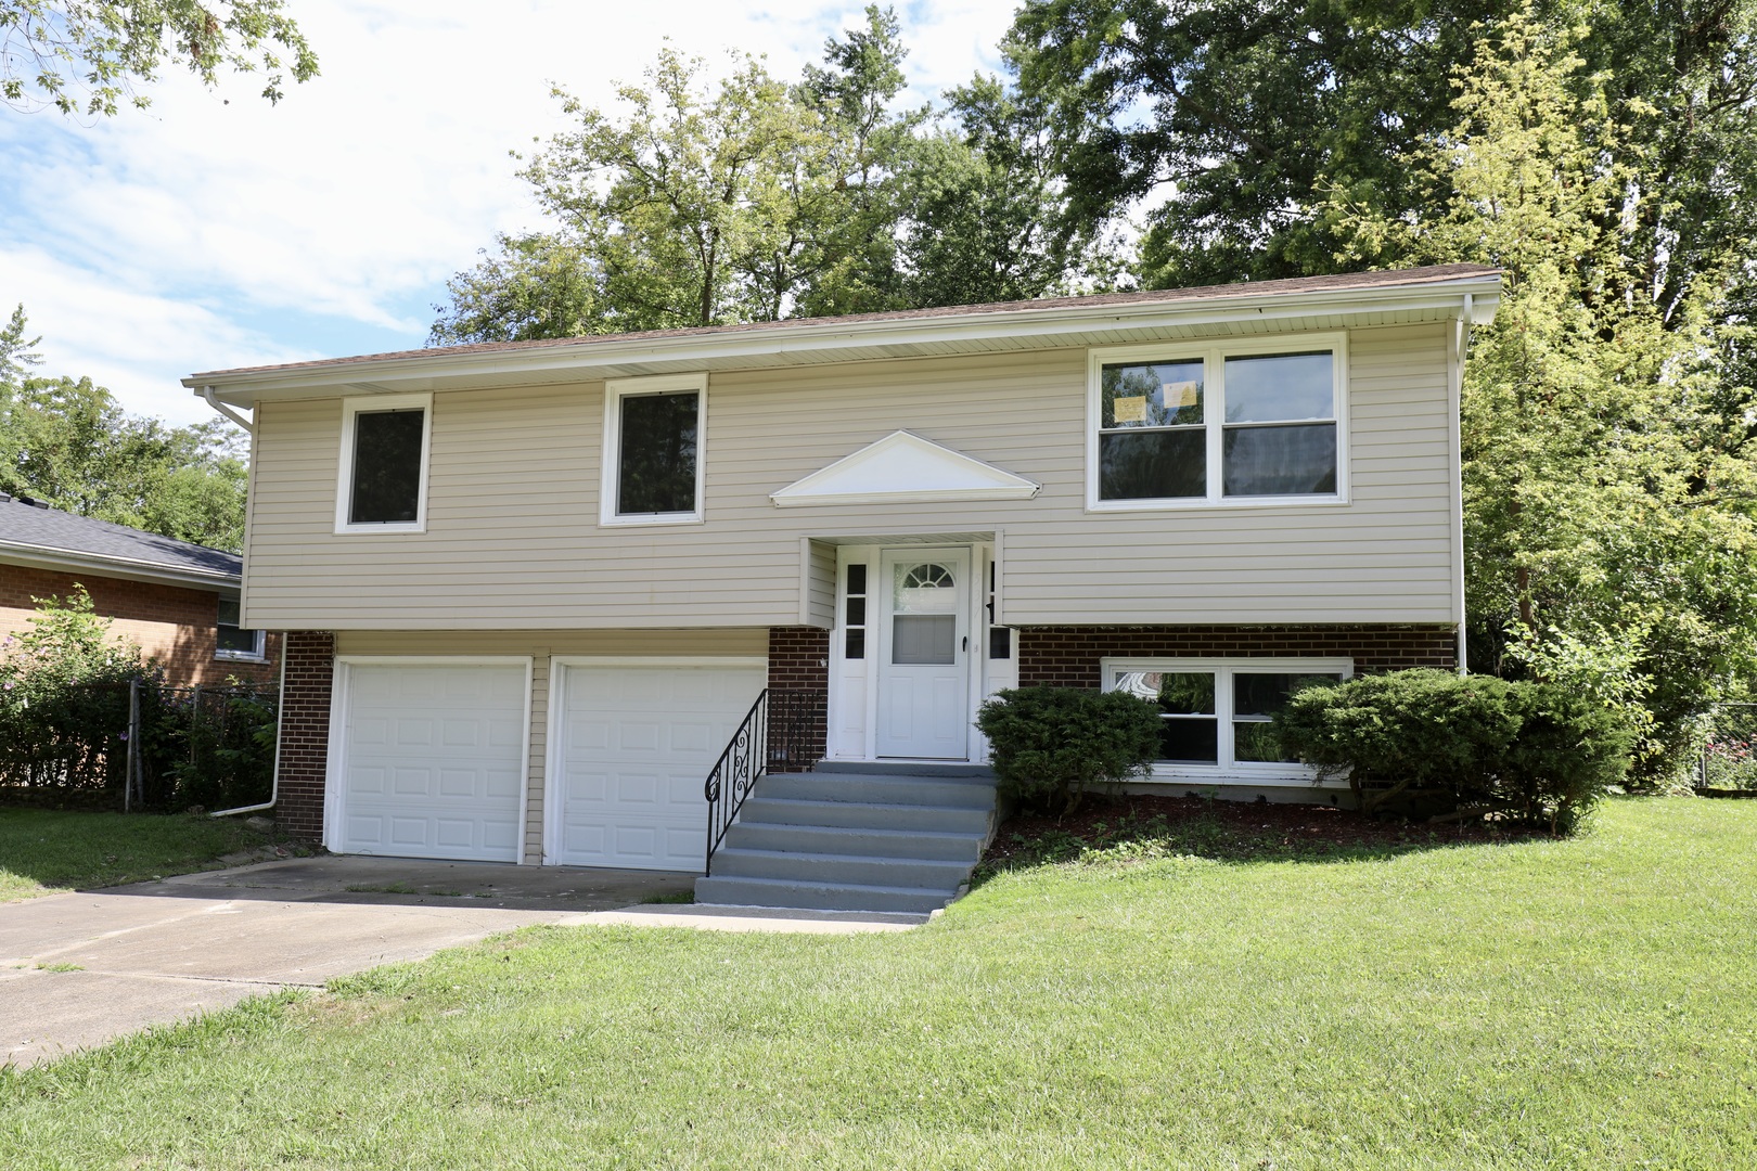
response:
<path id="1" fill-rule="evenodd" d="M 548 767 L 550 655 L 768 657 L 768 629 L 757 630 L 343 630 L 337 655 L 529 655 L 531 758 L 525 762 L 524 862 L 543 862 L 543 788 Z"/>

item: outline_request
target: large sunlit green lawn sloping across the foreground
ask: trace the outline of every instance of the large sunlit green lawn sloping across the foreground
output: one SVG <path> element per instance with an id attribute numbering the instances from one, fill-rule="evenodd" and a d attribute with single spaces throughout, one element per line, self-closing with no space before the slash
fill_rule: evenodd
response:
<path id="1" fill-rule="evenodd" d="M 0 1166 L 1752 1167 L 1757 802 L 529 930 L 0 1074 Z"/>

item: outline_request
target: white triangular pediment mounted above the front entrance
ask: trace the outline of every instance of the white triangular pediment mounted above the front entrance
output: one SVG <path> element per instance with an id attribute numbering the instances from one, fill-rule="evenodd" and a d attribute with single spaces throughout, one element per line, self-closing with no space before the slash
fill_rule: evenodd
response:
<path id="1" fill-rule="evenodd" d="M 993 463 L 900 430 L 770 493 L 770 500 L 780 507 L 1030 500 L 1040 486 Z"/>

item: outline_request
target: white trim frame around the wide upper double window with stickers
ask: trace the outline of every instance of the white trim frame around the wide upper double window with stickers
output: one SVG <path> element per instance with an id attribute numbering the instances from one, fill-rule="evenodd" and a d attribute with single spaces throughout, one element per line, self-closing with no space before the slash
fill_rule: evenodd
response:
<path id="1" fill-rule="evenodd" d="M 1330 369 L 1330 393 L 1335 406 L 1335 493 L 1323 495 L 1269 495 L 1228 497 L 1221 493 L 1221 437 L 1226 418 L 1225 362 L 1262 353 L 1311 353 L 1328 349 L 1335 355 Z M 1202 362 L 1204 374 L 1204 427 L 1207 428 L 1207 495 L 1205 497 L 1149 497 L 1140 500 L 1098 499 L 1098 428 L 1103 423 L 1103 367 L 1117 362 Z M 1235 341 L 1175 342 L 1149 346 L 1102 346 L 1086 351 L 1086 511 L 1088 513 L 1140 513 L 1161 509 L 1226 509 L 1226 507 L 1311 507 L 1348 504 L 1349 474 L 1349 420 L 1348 420 L 1348 332 L 1277 334 Z"/>

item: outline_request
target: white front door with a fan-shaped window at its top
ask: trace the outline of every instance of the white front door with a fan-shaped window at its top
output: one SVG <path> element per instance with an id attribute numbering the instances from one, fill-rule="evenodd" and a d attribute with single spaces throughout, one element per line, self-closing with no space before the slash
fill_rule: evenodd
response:
<path id="1" fill-rule="evenodd" d="M 878 755 L 970 757 L 970 550 L 878 558 Z"/>

